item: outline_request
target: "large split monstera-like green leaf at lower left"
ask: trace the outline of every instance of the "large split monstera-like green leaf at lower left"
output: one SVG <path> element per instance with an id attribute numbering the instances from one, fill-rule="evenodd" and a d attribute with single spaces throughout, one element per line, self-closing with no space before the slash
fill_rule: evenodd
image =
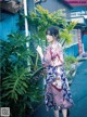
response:
<path id="1" fill-rule="evenodd" d="M 26 74 L 26 69 L 14 66 L 11 74 L 2 79 L 2 88 L 5 90 L 3 96 L 7 96 L 9 100 L 17 101 L 18 95 L 24 95 L 28 88 Z"/>

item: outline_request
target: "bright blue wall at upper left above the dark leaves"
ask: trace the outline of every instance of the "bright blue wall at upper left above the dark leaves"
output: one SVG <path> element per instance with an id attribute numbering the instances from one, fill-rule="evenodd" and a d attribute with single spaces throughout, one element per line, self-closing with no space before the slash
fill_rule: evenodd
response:
<path id="1" fill-rule="evenodd" d="M 0 39 L 7 40 L 8 35 L 18 29 L 18 14 L 1 13 Z"/>

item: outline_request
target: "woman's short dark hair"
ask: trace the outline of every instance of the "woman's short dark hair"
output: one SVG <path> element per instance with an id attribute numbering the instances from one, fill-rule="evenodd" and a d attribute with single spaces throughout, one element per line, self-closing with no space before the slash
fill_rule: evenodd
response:
<path id="1" fill-rule="evenodd" d="M 50 36 L 59 36 L 59 29 L 55 26 L 51 26 L 47 29 L 46 35 L 50 35 Z"/>

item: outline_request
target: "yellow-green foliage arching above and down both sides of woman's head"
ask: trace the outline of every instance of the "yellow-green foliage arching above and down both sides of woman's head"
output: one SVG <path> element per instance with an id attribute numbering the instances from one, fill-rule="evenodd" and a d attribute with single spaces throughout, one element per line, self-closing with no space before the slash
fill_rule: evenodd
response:
<path id="1" fill-rule="evenodd" d="M 25 16 L 23 15 L 23 17 Z M 75 27 L 76 22 L 67 23 L 64 9 L 49 13 L 48 10 L 37 5 L 36 12 L 28 14 L 27 20 L 32 26 L 36 27 L 36 32 L 33 32 L 33 38 L 37 37 L 40 41 L 46 41 L 47 28 L 51 25 L 55 25 L 60 31 L 60 41 L 63 41 L 63 44 L 72 42 L 73 35 L 71 30 Z"/>

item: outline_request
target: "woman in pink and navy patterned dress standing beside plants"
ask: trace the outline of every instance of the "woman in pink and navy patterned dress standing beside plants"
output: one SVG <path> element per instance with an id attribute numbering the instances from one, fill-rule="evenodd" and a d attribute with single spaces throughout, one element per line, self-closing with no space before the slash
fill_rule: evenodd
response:
<path id="1" fill-rule="evenodd" d="M 55 117 L 59 117 L 60 109 L 62 109 L 63 117 L 66 117 L 67 108 L 73 105 L 73 100 L 63 66 L 63 50 L 58 41 L 58 28 L 55 26 L 49 27 L 46 36 L 49 46 L 45 54 L 42 54 L 41 48 L 37 47 L 42 65 L 47 69 L 45 103 L 47 109 L 54 108 Z"/>

